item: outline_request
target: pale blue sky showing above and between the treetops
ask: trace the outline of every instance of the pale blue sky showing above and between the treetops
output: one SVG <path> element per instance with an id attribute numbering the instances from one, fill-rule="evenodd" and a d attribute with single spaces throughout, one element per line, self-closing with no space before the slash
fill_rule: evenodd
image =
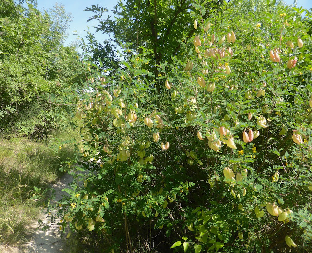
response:
<path id="1" fill-rule="evenodd" d="M 70 24 L 70 28 L 68 29 L 68 38 L 65 40 L 65 45 L 71 44 L 72 41 L 75 41 L 77 35 L 74 35 L 73 32 L 77 31 L 80 37 L 85 36 L 86 30 L 90 27 L 90 31 L 95 33 L 95 29 L 92 26 L 96 26 L 97 22 L 87 22 L 87 18 L 92 16 L 92 12 L 84 11 L 86 7 L 91 7 L 91 5 L 97 5 L 107 8 L 108 10 L 113 9 L 113 7 L 117 4 L 118 0 L 37 0 L 38 1 L 38 9 L 42 10 L 52 8 L 55 2 L 59 4 L 63 4 L 67 12 L 72 15 L 72 22 Z M 284 0 L 288 5 L 293 4 L 293 0 Z M 305 9 L 312 8 L 312 0 L 297 0 L 297 6 L 303 6 Z M 103 35 L 100 32 L 95 33 L 97 40 L 100 42 L 106 38 L 107 35 Z"/>

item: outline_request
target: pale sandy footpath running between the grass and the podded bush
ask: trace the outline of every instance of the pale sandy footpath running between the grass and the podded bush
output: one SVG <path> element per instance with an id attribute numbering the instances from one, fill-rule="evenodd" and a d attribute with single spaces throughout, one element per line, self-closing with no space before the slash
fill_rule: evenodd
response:
<path id="1" fill-rule="evenodd" d="M 68 184 L 72 181 L 73 177 L 65 174 L 59 181 L 51 185 L 51 188 L 55 190 L 55 201 L 62 198 L 62 195 L 65 194 L 62 189 L 68 187 Z M 38 219 L 42 220 L 42 226 L 48 225 L 48 229 L 40 229 L 38 222 L 36 222 L 33 225 L 35 231 L 32 234 L 31 241 L 23 249 L 0 246 L 0 253 L 69 253 L 65 249 L 65 238 L 62 239 L 60 237 L 59 227 L 57 225 L 59 219 L 56 219 L 51 224 L 51 217 L 47 217 L 45 213 L 46 210 L 42 210 L 41 216 Z"/>

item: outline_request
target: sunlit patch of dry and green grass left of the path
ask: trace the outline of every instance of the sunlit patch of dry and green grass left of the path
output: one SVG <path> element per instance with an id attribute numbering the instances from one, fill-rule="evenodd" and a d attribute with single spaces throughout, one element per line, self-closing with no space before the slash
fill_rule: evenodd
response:
<path id="1" fill-rule="evenodd" d="M 1 138 L 0 244 L 18 247 L 29 240 L 49 184 L 61 177 L 75 157 L 77 136 L 70 130 L 55 132 L 39 143 Z"/>

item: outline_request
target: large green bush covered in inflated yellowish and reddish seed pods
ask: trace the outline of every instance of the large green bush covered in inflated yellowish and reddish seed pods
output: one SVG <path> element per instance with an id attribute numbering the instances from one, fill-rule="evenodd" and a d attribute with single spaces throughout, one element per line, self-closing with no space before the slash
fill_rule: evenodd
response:
<path id="1" fill-rule="evenodd" d="M 158 76 L 149 51 L 114 75 L 85 63 L 85 163 L 61 225 L 105 238 L 104 252 L 136 238 L 161 252 L 311 252 L 311 13 L 234 1 L 204 20 L 203 6 Z"/>

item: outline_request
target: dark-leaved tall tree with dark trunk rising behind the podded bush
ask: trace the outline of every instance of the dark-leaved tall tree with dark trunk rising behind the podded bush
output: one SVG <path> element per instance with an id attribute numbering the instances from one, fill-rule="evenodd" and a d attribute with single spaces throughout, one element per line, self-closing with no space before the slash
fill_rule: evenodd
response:
<path id="1" fill-rule="evenodd" d="M 139 52 L 144 46 L 153 53 L 151 71 L 158 76 L 157 65 L 171 62 L 171 56 L 180 50 L 180 41 L 194 35 L 193 22 L 199 15 L 205 20 L 211 13 L 222 7 L 222 0 L 207 0 L 201 3 L 201 11 L 194 8 L 192 0 L 120 0 L 113 14 L 105 17 L 108 10 L 92 5 L 87 11 L 95 13 L 88 21 L 99 21 L 97 31 L 112 36 L 110 41 L 122 47 L 127 45 Z M 205 11 L 209 10 L 209 11 Z"/>

